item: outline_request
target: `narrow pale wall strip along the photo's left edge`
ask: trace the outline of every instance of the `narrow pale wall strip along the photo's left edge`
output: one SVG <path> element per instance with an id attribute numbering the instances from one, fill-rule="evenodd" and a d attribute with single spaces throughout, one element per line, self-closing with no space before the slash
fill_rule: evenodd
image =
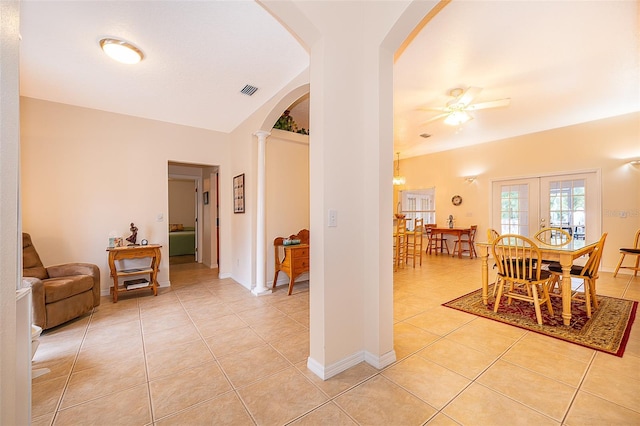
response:
<path id="1" fill-rule="evenodd" d="M 17 370 L 16 288 L 22 271 L 19 202 L 20 3 L 0 2 L 0 424 L 30 420 L 30 401 L 17 395 L 29 386 Z M 30 389 L 29 389 L 30 390 Z"/>

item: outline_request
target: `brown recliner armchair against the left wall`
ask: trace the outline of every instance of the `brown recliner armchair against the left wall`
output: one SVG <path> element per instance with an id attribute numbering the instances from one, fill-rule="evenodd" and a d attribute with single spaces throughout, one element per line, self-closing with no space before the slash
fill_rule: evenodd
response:
<path id="1" fill-rule="evenodd" d="M 33 323 L 44 330 L 90 312 L 100 305 L 100 269 L 90 263 L 66 263 L 45 268 L 22 233 L 23 285 L 31 286 Z"/>

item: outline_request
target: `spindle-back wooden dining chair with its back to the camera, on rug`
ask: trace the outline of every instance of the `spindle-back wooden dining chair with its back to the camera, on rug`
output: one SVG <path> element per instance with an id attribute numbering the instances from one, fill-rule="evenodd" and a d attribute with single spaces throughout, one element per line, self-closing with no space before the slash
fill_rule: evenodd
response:
<path id="1" fill-rule="evenodd" d="M 498 274 L 504 283 L 498 287 L 493 311 L 498 312 L 502 296 L 507 297 L 508 304 L 511 304 L 512 299 L 532 302 L 536 320 L 542 325 L 541 304 L 546 304 L 549 313 L 553 315 L 549 297 L 549 279 L 552 274 L 542 270 L 542 254 L 536 243 L 522 235 L 505 234 L 493 242 L 491 250 L 498 265 Z"/>

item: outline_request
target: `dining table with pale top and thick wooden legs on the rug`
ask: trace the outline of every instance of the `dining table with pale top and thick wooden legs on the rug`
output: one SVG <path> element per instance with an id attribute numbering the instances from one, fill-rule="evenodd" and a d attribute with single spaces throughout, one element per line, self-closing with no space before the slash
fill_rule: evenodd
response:
<path id="1" fill-rule="evenodd" d="M 476 250 L 482 265 L 482 303 L 489 300 L 489 252 L 493 243 L 476 242 Z M 598 241 L 573 239 L 564 246 L 551 246 L 538 244 L 538 248 L 545 260 L 557 261 L 562 267 L 562 322 L 564 325 L 571 323 L 571 265 L 578 257 L 581 257 L 598 245 Z"/>

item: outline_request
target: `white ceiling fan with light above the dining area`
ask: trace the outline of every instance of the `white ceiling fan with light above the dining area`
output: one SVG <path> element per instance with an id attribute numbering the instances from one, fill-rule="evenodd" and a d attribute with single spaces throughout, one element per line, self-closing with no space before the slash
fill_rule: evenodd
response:
<path id="1" fill-rule="evenodd" d="M 509 105 L 511 98 L 496 99 L 494 101 L 479 102 L 472 104 L 473 99 L 482 91 L 479 87 L 468 87 L 466 90 L 461 88 L 451 89 L 449 96 L 453 99 L 447 102 L 443 107 L 421 108 L 427 111 L 440 111 L 441 113 L 431 117 L 423 124 L 444 118 L 444 123 L 450 126 L 460 126 L 469 120 L 473 120 L 473 116 L 469 111 L 477 111 L 479 109 L 499 108 Z"/>

